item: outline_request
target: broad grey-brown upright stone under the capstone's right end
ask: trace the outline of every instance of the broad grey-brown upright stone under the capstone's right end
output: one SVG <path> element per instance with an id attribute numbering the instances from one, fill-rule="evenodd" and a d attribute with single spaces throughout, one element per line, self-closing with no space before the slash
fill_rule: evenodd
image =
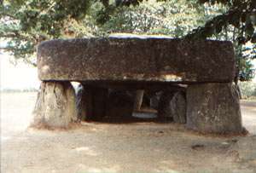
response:
<path id="1" fill-rule="evenodd" d="M 234 85 L 192 84 L 187 89 L 187 128 L 202 133 L 241 133 L 239 95 Z"/>

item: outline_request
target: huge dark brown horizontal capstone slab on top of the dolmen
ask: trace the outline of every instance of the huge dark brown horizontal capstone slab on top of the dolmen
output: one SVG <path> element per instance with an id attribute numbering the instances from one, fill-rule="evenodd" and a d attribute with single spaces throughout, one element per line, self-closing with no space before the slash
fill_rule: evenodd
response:
<path id="1" fill-rule="evenodd" d="M 232 44 L 155 37 L 51 40 L 38 46 L 41 80 L 231 82 Z"/>

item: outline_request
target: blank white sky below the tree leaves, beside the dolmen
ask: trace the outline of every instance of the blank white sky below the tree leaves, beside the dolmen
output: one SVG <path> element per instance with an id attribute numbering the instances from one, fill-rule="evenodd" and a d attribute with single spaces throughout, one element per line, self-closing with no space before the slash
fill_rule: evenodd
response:
<path id="1" fill-rule="evenodd" d="M 256 68 L 256 60 L 253 61 Z M 9 62 L 9 55 L 0 53 L 0 89 L 38 89 L 38 71 L 36 67 L 25 63 L 14 66 Z M 256 82 L 256 78 L 253 79 Z"/>

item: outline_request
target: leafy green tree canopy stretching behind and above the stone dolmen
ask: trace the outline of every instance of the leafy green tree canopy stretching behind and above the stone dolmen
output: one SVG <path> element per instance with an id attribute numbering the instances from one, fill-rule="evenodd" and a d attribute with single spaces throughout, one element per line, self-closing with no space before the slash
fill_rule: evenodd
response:
<path id="1" fill-rule="evenodd" d="M 255 0 L 3 0 L 0 6 L 0 37 L 8 41 L 2 49 L 32 64 L 38 43 L 52 38 L 167 34 L 232 41 L 240 79 L 247 80 L 255 27 Z"/>

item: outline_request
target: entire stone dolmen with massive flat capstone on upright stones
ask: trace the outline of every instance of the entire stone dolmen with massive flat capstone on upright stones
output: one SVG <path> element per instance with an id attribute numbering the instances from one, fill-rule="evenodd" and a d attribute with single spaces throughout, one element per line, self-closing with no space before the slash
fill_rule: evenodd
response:
<path id="1" fill-rule="evenodd" d="M 38 45 L 38 78 L 42 84 L 32 125 L 67 127 L 79 121 L 79 114 L 85 120 L 101 119 L 113 102 L 109 90 L 162 89 L 165 94 L 160 100 L 172 100 L 172 91 L 185 86 L 185 106 L 180 111 L 172 109 L 184 112 L 181 122 L 189 130 L 241 133 L 239 95 L 232 84 L 235 73 L 230 42 L 168 37 L 46 41 Z M 83 86 L 79 108 L 71 82 Z M 160 114 L 169 107 L 161 101 L 159 104 Z"/>

